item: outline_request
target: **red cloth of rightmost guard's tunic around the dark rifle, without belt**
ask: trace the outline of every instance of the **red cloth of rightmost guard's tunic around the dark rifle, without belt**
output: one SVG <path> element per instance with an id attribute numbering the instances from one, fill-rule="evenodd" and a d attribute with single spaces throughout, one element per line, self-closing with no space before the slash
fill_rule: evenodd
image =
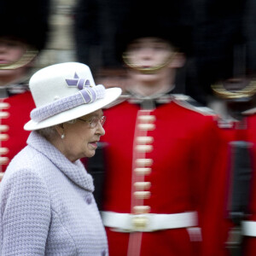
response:
<path id="1" fill-rule="evenodd" d="M 254 156 L 256 155 L 256 115 L 247 116 L 243 123 L 245 124 L 244 129 L 239 129 L 236 126 L 236 123 L 234 123 L 233 127 L 226 128 L 226 129 L 220 129 L 221 135 L 224 141 L 224 149 L 222 153 L 222 166 L 221 166 L 221 172 L 219 173 L 219 182 L 218 187 L 219 189 L 216 190 L 216 195 L 213 196 L 213 198 L 216 201 L 219 201 L 220 206 L 218 207 L 218 213 L 216 213 L 216 216 L 219 216 L 219 219 L 221 220 L 219 222 L 219 225 L 222 226 L 221 230 L 222 233 L 219 234 L 220 237 L 220 243 L 219 248 L 223 247 L 225 242 L 228 240 L 230 230 L 234 227 L 234 224 L 230 221 L 229 215 L 228 215 L 228 208 L 230 203 L 230 180 L 232 179 L 232 168 L 230 168 L 230 146 L 229 143 L 231 141 L 247 141 L 253 143 L 252 148 L 252 156 L 253 156 L 253 177 L 252 177 L 252 193 L 251 193 L 251 205 L 250 205 L 250 220 L 256 221 L 256 178 L 255 178 L 255 172 L 256 170 L 256 161 L 254 160 Z M 239 188 L 237 188 L 239 189 Z M 242 245 L 243 254 L 245 256 L 251 256 L 255 255 L 256 253 L 256 237 L 248 237 L 244 236 L 244 245 Z M 224 249 L 224 253 L 228 254 L 229 251 L 227 249 Z M 219 254 L 218 254 L 219 255 Z"/>

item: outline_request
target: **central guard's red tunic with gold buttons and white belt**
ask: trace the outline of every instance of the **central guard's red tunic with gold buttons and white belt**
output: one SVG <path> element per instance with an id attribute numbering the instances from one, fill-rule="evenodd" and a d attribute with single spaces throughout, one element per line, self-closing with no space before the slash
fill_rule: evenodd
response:
<path id="1" fill-rule="evenodd" d="M 104 111 L 102 217 L 110 256 L 198 256 L 202 248 L 217 255 L 211 194 L 218 128 L 212 114 L 183 98 L 152 109 L 128 100 Z"/>

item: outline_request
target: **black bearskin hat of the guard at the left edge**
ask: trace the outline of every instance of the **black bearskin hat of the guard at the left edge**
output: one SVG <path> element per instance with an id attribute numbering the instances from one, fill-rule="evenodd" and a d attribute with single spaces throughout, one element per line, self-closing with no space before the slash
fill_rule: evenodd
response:
<path id="1" fill-rule="evenodd" d="M 49 0 L 1 0 L 0 37 L 44 48 L 49 30 Z"/>

